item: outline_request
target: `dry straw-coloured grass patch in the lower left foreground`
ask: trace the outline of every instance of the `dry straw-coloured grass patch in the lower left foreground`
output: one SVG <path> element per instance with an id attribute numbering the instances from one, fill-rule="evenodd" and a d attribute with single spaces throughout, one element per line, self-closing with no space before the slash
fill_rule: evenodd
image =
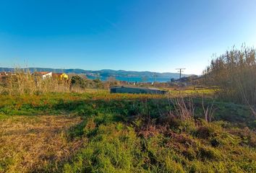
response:
<path id="1" fill-rule="evenodd" d="M 0 172 L 58 172 L 58 164 L 82 146 L 65 134 L 80 117 L 13 116 L 0 120 Z"/>

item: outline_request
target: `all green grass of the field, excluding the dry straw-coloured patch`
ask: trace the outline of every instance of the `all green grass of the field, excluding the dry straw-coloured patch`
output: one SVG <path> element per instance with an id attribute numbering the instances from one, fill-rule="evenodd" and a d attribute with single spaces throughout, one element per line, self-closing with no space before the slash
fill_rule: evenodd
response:
<path id="1" fill-rule="evenodd" d="M 204 105 L 212 102 L 205 99 Z M 249 107 L 218 100 L 213 122 L 206 123 L 202 99 L 194 97 L 193 105 L 194 117 L 181 120 L 168 116 L 174 105 L 161 95 L 1 96 L 0 122 L 17 115 L 82 118 L 61 135 L 63 143 L 80 141 L 80 147 L 40 172 L 256 172 L 256 123 Z M 10 171 L 6 163 L 0 159 L 2 172 Z"/>

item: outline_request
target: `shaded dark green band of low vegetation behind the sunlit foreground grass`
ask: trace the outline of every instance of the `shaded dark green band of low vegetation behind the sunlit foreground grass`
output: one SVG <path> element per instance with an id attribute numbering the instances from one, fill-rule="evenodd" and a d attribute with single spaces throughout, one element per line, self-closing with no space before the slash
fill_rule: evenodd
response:
<path id="1" fill-rule="evenodd" d="M 186 99 L 186 98 L 185 98 Z M 46 100 L 47 101 L 47 100 Z M 204 118 L 202 99 L 197 97 L 192 100 L 195 108 L 195 118 Z M 205 99 L 205 107 L 213 103 L 212 99 Z M 256 126 L 255 117 L 244 105 L 236 105 L 230 102 L 214 102 L 215 110 L 213 120 L 224 120 L 231 123 L 244 123 L 253 128 Z M 126 120 L 137 115 L 150 115 L 158 118 L 168 115 L 174 110 L 174 103 L 167 98 L 115 98 L 115 99 L 56 99 L 52 102 L 33 105 L 23 102 L 17 105 L 10 102 L 0 107 L 2 115 L 61 115 L 72 114 L 82 117 L 94 117 L 99 114 L 111 114 Z"/>

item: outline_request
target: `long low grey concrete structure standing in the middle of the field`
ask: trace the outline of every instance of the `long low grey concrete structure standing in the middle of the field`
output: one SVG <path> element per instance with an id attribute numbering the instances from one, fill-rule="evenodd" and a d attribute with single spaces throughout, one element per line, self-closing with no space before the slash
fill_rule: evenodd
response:
<path id="1" fill-rule="evenodd" d="M 131 93 L 131 94 L 166 94 L 166 91 L 156 88 L 144 88 L 133 86 L 114 86 L 110 88 L 110 93 Z"/>

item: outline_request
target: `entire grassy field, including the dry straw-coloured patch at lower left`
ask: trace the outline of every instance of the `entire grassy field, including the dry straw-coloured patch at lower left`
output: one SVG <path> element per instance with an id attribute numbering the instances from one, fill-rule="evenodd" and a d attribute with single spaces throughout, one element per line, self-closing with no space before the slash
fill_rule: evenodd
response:
<path id="1" fill-rule="evenodd" d="M 0 172 L 256 172 L 249 107 L 190 96 L 2 95 Z"/>

